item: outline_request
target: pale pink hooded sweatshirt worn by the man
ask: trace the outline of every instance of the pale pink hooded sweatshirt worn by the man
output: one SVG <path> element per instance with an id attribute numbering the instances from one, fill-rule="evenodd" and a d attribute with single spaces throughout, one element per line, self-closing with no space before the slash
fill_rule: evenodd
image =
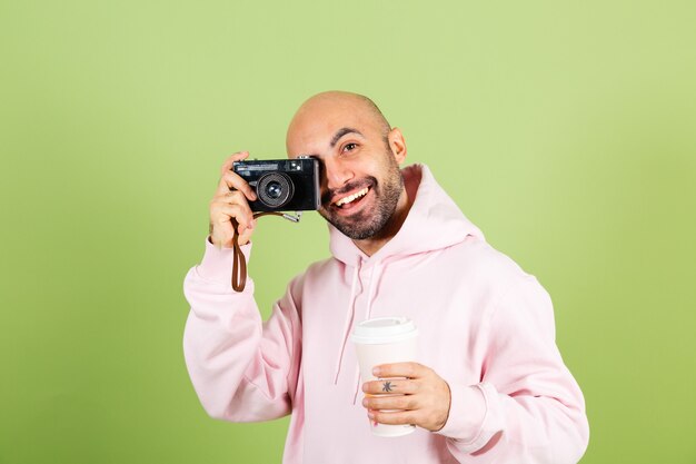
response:
<path id="1" fill-rule="evenodd" d="M 484 240 L 427 167 L 404 177 L 419 186 L 399 233 L 368 257 L 329 226 L 334 257 L 292 279 L 266 323 L 253 282 L 241 294 L 230 287 L 231 250 L 206 240 L 185 282 L 183 338 L 203 407 L 233 422 L 292 414 L 284 463 L 576 463 L 585 404 L 556 347 L 547 293 Z M 437 433 L 370 433 L 349 334 L 392 315 L 416 323 L 416 361 L 450 386 Z"/>

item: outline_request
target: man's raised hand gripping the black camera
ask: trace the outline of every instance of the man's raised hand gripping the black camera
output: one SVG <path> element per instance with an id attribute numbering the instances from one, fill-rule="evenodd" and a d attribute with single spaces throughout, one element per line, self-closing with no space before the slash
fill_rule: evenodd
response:
<path id="1" fill-rule="evenodd" d="M 232 170 L 235 161 L 249 156 L 248 151 L 232 155 L 222 165 L 218 189 L 210 201 L 210 241 L 218 248 L 232 248 L 235 230 L 232 219 L 238 224 L 239 245 L 245 245 L 253 234 L 256 220 L 248 201 L 256 200 L 253 189 Z"/>

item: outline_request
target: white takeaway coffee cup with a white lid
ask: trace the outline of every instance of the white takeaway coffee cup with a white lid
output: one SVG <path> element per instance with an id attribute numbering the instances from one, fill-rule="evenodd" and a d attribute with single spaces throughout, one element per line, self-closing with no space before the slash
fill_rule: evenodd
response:
<path id="1" fill-rule="evenodd" d="M 416 361 L 418 329 L 407 317 L 364 320 L 356 325 L 350 338 L 358 355 L 362 383 L 378 379 L 372 375 L 375 366 Z M 401 436 L 416 430 L 410 424 L 388 425 L 374 421 L 370 421 L 370 427 L 379 436 Z"/>

